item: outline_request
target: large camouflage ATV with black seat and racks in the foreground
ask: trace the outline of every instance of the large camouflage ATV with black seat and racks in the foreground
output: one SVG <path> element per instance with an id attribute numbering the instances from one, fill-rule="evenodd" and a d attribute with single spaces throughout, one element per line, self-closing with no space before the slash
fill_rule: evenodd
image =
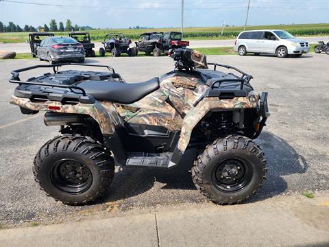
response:
<path id="1" fill-rule="evenodd" d="M 253 90 L 251 75 L 207 64 L 197 51 L 176 49 L 171 57 L 173 71 L 134 84 L 97 64 L 73 65 L 108 71 L 58 70 L 72 64 L 12 71 L 10 82 L 19 86 L 11 103 L 23 114 L 45 111 L 45 124 L 60 126 L 60 135 L 34 158 L 42 189 L 66 204 L 85 204 L 106 192 L 114 163 L 169 169 L 195 148 L 199 156 L 192 178 L 208 200 L 233 204 L 256 192 L 265 179 L 266 160 L 252 140 L 269 117 L 267 93 Z M 20 80 L 19 73 L 39 67 L 52 67 L 54 73 Z"/>

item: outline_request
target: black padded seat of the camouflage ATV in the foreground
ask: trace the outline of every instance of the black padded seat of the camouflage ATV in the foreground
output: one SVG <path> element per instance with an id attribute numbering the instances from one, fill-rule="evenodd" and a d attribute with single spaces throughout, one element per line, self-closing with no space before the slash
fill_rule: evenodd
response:
<path id="1" fill-rule="evenodd" d="M 95 99 L 132 104 L 159 88 L 159 78 L 146 82 L 125 83 L 86 80 L 77 84 Z"/>

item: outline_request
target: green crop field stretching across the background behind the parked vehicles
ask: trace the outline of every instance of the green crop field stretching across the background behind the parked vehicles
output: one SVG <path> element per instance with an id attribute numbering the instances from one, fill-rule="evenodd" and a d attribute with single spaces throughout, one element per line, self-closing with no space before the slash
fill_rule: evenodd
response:
<path id="1" fill-rule="evenodd" d="M 184 39 L 226 39 L 235 38 L 239 32 L 243 31 L 243 27 L 226 27 L 223 35 L 221 35 L 222 27 L 186 27 L 184 28 Z M 247 26 L 246 30 L 257 29 L 280 29 L 287 30 L 295 36 L 325 36 L 329 35 L 329 23 L 318 24 L 296 24 L 296 25 L 258 25 Z M 156 28 L 147 30 L 130 30 L 130 29 L 110 29 L 110 30 L 90 30 L 92 41 L 103 41 L 104 36 L 108 32 L 122 32 L 125 36 L 138 39 L 138 36 L 143 32 L 167 32 L 167 31 L 180 31 L 180 28 Z M 26 42 L 28 39 L 28 32 L 16 33 L 0 33 L 0 42 L 2 43 L 19 43 Z M 56 32 L 56 36 L 67 36 L 67 32 Z"/>

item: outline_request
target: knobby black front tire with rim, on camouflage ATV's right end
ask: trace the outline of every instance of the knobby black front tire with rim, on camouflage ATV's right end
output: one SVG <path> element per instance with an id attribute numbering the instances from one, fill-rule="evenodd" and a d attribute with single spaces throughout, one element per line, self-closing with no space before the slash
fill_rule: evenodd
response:
<path id="1" fill-rule="evenodd" d="M 247 137 L 217 139 L 197 157 L 195 187 L 216 204 L 236 204 L 256 193 L 267 171 L 264 153 Z"/>

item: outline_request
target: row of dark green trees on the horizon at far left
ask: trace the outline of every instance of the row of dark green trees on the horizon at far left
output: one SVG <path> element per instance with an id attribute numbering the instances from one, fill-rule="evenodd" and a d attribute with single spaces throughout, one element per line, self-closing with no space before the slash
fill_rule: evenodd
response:
<path id="1" fill-rule="evenodd" d="M 51 19 L 48 25 L 45 23 L 45 25 L 34 27 L 32 25 L 25 25 L 23 28 L 21 28 L 19 25 L 15 25 L 12 21 L 8 23 L 8 25 L 4 25 L 0 21 L 0 32 L 37 32 L 38 30 L 42 29 L 44 32 L 71 32 L 71 31 L 79 31 L 79 30 L 84 30 L 84 27 L 79 27 L 78 25 L 72 24 L 70 19 L 66 20 L 65 27 L 62 21 L 60 23 L 56 23 L 55 19 Z"/>

